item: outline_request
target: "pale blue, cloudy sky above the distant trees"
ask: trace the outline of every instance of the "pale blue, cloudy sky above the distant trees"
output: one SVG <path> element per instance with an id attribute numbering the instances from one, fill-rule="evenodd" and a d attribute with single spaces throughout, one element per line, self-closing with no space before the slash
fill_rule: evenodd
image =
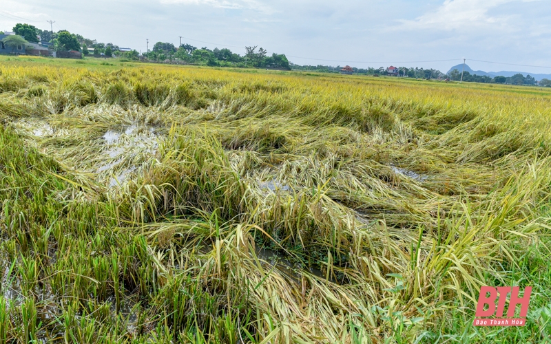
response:
<path id="1" fill-rule="evenodd" d="M 551 73 L 551 0 L 1 0 L 0 30 L 26 22 L 145 51 L 157 41 L 245 45 L 299 64 Z M 24 20 L 14 20 L 14 16 Z M 30 21 L 32 20 L 32 21 Z M 194 39 L 195 41 L 192 41 Z M 211 42 L 210 43 L 202 43 Z M 304 58 L 299 58 L 300 56 Z M 316 61 L 323 60 L 334 61 Z M 413 62 L 455 59 L 455 61 Z M 358 62 L 356 62 L 358 61 Z M 409 62 L 412 61 L 412 62 Z"/>

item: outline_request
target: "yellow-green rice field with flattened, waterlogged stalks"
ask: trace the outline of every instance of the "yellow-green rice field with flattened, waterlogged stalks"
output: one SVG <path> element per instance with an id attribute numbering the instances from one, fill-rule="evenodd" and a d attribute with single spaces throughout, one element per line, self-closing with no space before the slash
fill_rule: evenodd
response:
<path id="1" fill-rule="evenodd" d="M 0 122 L 1 343 L 550 341 L 549 90 L 1 58 Z"/>

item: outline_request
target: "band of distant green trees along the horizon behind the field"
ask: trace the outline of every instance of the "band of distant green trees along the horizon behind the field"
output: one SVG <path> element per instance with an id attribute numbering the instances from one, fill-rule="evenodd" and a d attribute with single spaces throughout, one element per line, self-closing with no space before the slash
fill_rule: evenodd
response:
<path id="1" fill-rule="evenodd" d="M 104 56 L 121 56 L 129 60 L 137 60 L 139 52 L 131 50 L 129 52 L 121 52 L 120 47 L 113 43 L 101 43 L 95 39 L 87 39 L 80 34 L 72 34 L 67 30 L 59 30 L 52 32 L 48 30 L 40 30 L 34 25 L 17 23 L 13 31 L 19 37 L 6 37 L 3 43 L 10 47 L 18 45 L 27 45 L 28 43 L 48 42 L 56 51 L 76 50 L 81 51 L 84 55 L 90 54 L 89 48 L 93 49 L 92 54 Z M 40 39 L 39 39 L 40 38 Z M 183 61 L 185 63 L 194 63 L 198 65 L 220 66 L 220 67 L 257 67 L 269 69 L 288 69 L 299 71 L 312 71 L 324 73 L 340 73 L 342 66 L 337 65 L 295 65 L 287 60 L 285 54 L 272 54 L 268 56 L 267 51 L 258 46 L 245 47 L 245 54 L 239 55 L 227 48 L 210 50 L 207 47 L 198 49 L 189 43 L 174 46 L 168 42 L 157 42 L 153 45 L 153 49 L 143 53 L 143 56 L 149 61 Z M 357 68 L 353 67 L 354 74 L 364 75 L 387 75 L 385 67 L 373 68 Z M 423 79 L 445 79 L 459 81 L 461 80 L 461 72 L 458 69 L 448 74 L 444 74 L 437 69 L 424 69 L 419 67 L 398 67 L 398 76 L 408 76 L 409 78 Z M 515 74 L 514 76 L 478 76 L 464 72 L 463 81 L 467 83 L 498 83 L 510 85 L 537 85 L 537 81 L 533 76 L 523 74 Z M 540 86 L 551 87 L 551 80 L 543 79 L 539 82 Z"/>

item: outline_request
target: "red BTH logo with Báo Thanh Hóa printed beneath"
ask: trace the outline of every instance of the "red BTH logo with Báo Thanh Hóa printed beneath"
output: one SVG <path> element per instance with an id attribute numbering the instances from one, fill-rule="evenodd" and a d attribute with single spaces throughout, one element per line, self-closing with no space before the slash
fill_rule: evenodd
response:
<path id="1" fill-rule="evenodd" d="M 526 287 L 524 289 L 523 297 L 519 297 L 519 289 L 519 287 L 481 287 L 478 297 L 477 313 L 475 314 L 476 319 L 472 322 L 472 325 L 526 325 L 526 314 L 528 313 L 528 303 L 530 303 L 530 294 L 532 294 L 532 287 Z M 508 294 L 510 294 L 509 307 L 506 316 L 503 316 Z M 486 305 L 488 305 L 488 309 L 484 310 L 484 308 L 486 308 Z M 517 308 L 517 305 L 521 305 L 520 318 L 514 318 L 514 310 Z M 484 317 L 493 316 L 494 314 L 495 318 L 484 319 Z"/>

